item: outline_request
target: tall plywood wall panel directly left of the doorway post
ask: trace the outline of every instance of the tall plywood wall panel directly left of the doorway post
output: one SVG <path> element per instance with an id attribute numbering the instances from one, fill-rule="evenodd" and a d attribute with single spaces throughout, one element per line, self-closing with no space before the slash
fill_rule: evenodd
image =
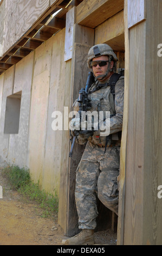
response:
<path id="1" fill-rule="evenodd" d="M 45 154 L 44 154 L 44 167 L 43 167 L 43 187 L 50 193 L 55 192 L 59 196 L 60 191 L 60 172 L 63 168 L 68 168 L 62 166 L 61 157 L 66 155 L 66 145 L 68 147 L 69 138 L 65 143 L 66 138 L 64 138 L 64 147 L 62 148 L 63 139 L 63 127 L 62 130 L 54 131 L 51 127 L 54 118 L 52 114 L 54 111 L 59 111 L 64 114 L 64 91 L 67 88 L 66 78 L 67 76 L 62 74 L 66 70 L 66 63 L 64 63 L 64 35 L 65 29 L 57 33 L 52 39 L 52 56 L 51 56 L 51 75 L 49 84 L 49 98 L 48 98 L 48 116 L 47 116 L 47 129 L 46 129 L 46 144 L 45 144 Z M 67 80 L 68 81 L 68 80 Z M 69 89 L 69 87 L 68 87 Z M 68 90 L 67 89 L 67 90 Z M 68 97 L 68 94 L 67 94 Z M 68 151 L 68 149 L 67 149 Z M 64 171 L 63 171 L 64 173 Z M 66 173 L 64 173 L 66 175 Z M 65 178 L 66 180 L 66 178 Z M 64 187 L 63 187 L 64 188 Z M 63 189 L 62 188 L 62 189 Z M 61 196 L 60 196 L 61 201 Z"/>

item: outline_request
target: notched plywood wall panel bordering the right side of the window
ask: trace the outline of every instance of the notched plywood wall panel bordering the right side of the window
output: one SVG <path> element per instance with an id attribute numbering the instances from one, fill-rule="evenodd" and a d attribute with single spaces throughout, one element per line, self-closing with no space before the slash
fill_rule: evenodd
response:
<path id="1" fill-rule="evenodd" d="M 20 167 L 27 166 L 33 59 L 34 53 L 31 53 L 15 66 L 13 93 L 15 94 L 22 91 L 22 97 L 18 134 L 10 135 L 8 161 L 17 164 Z"/>

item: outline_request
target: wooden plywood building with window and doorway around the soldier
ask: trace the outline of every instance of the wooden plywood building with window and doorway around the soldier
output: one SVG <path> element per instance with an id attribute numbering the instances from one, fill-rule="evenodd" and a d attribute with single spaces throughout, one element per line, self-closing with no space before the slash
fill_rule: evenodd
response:
<path id="1" fill-rule="evenodd" d="M 30 169 L 59 196 L 59 224 L 77 232 L 75 170 L 68 114 L 87 80 L 87 53 L 106 42 L 125 68 L 118 245 L 162 244 L 162 38 L 160 0 L 2 0 L 0 2 L 0 161 Z M 67 111 L 68 109 L 68 111 Z M 62 129 L 53 130 L 54 112 Z M 98 230 L 114 225 L 99 204 Z"/>

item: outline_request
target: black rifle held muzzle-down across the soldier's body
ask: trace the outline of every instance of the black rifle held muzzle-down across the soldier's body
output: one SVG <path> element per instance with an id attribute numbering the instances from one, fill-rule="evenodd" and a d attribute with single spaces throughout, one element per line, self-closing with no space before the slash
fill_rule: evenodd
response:
<path id="1" fill-rule="evenodd" d="M 86 82 L 86 87 L 85 88 L 81 88 L 81 90 L 79 91 L 79 97 L 77 102 L 79 102 L 79 116 L 80 116 L 80 124 L 81 124 L 81 113 L 82 111 L 87 111 L 87 107 L 88 107 L 88 90 L 90 88 L 90 86 L 92 85 L 92 83 L 94 82 L 94 76 L 93 76 L 93 72 L 88 72 L 88 78 L 87 78 L 87 82 Z M 81 131 L 81 127 L 80 127 L 80 131 L 76 131 L 75 130 L 75 136 L 73 137 L 73 142 L 72 142 L 72 146 L 70 149 L 70 153 L 69 153 L 69 157 L 72 157 L 73 155 L 73 149 L 74 149 L 74 144 L 76 141 L 76 137 L 79 135 L 79 133 L 84 133 L 84 131 Z M 92 132 L 92 131 L 91 131 Z"/>

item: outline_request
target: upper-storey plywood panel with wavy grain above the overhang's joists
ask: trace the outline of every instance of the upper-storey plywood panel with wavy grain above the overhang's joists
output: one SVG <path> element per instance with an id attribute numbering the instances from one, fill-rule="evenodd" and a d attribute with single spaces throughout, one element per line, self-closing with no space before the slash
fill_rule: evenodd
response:
<path id="1" fill-rule="evenodd" d="M 7 52 L 49 7 L 49 0 L 5 0 L 4 2 L 4 40 L 2 54 Z"/>

